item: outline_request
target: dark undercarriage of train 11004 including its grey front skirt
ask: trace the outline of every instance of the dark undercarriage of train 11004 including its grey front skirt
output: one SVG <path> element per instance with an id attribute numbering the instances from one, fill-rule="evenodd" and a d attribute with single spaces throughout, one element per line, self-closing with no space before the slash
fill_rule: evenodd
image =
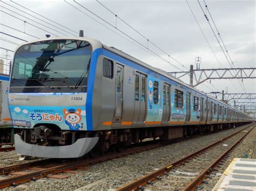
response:
<path id="1" fill-rule="evenodd" d="M 91 157 L 108 151 L 122 151 L 143 140 L 171 140 L 211 133 L 248 122 L 165 126 L 157 128 L 113 129 L 106 131 L 61 131 L 57 126 L 39 125 L 23 129 L 15 135 L 16 151 L 22 155 L 49 158 L 77 158 L 89 153 Z"/>

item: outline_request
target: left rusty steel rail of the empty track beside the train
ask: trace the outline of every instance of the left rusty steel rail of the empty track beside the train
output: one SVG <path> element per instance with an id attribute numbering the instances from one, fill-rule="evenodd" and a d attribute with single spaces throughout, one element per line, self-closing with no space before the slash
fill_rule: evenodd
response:
<path id="1" fill-rule="evenodd" d="M 196 152 L 193 152 L 192 154 L 189 154 L 189 155 L 187 155 L 186 157 L 184 157 L 184 158 L 182 158 L 182 159 L 178 159 L 178 160 L 172 162 L 171 164 L 166 165 L 166 166 L 163 167 L 163 168 L 159 168 L 157 171 L 151 172 L 151 173 L 149 173 L 149 174 L 146 174 L 145 176 L 142 176 L 142 177 L 138 178 L 137 180 L 134 180 L 134 181 L 132 181 L 132 182 L 129 182 L 129 183 L 127 183 L 126 185 L 124 185 L 124 186 L 122 186 L 122 187 L 120 187 L 120 188 L 118 188 L 118 189 L 116 189 L 116 190 L 117 190 L 117 191 L 136 190 L 136 189 L 138 189 L 138 188 L 140 188 L 140 187 L 146 185 L 148 182 L 157 179 L 158 176 L 163 175 L 163 174 L 166 173 L 166 172 L 169 172 L 171 168 L 177 167 L 177 166 L 183 164 L 184 162 L 186 162 L 187 160 L 190 160 L 191 158 L 195 157 L 195 156 L 198 155 L 199 153 L 201 153 L 201 152 L 207 150 L 208 148 L 210 148 L 210 147 L 212 147 L 212 146 L 215 146 L 215 145 L 217 145 L 217 144 L 223 142 L 223 140 L 226 140 L 226 139 L 228 139 L 228 138 L 230 138 L 230 137 L 236 135 L 237 133 L 239 133 L 239 132 L 241 132 L 241 131 L 243 131 L 243 130 L 249 128 L 249 127 L 252 126 L 252 125 L 254 125 L 254 124 L 250 124 L 250 125 L 246 126 L 246 128 L 243 128 L 243 129 L 241 129 L 241 130 L 239 130 L 239 131 L 237 131 L 237 132 L 234 132 L 234 133 L 232 133 L 231 135 L 229 135 L 229 136 L 227 136 L 227 137 L 225 137 L 225 138 L 222 138 L 222 139 L 218 140 L 217 142 L 215 142 L 215 143 L 213 143 L 213 144 L 211 144 L 211 145 L 208 145 L 208 146 L 206 146 L 206 147 L 204 147 L 204 148 L 201 148 L 200 150 L 198 150 L 198 151 L 196 151 Z"/>

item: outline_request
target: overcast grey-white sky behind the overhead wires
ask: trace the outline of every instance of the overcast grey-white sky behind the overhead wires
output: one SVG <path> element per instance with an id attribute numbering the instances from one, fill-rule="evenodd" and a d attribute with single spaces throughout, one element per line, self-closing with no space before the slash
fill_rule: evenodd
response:
<path id="1" fill-rule="evenodd" d="M 4 2 L 4 3 L 3 3 Z M 94 38 L 102 41 L 103 44 L 108 46 L 114 46 L 122 51 L 131 54 L 132 56 L 149 63 L 154 67 L 158 67 L 166 70 L 167 72 L 178 71 L 177 68 L 173 67 L 169 63 L 166 63 L 156 56 L 149 53 L 145 48 L 140 48 L 140 45 L 136 44 L 131 39 L 121 34 L 116 29 L 110 25 L 104 23 L 102 20 L 92 15 L 89 11 L 83 9 L 81 6 L 76 4 L 73 1 L 68 1 L 73 6 L 76 6 L 78 9 L 82 10 L 88 16 L 79 12 L 71 5 L 64 1 L 3 1 L 1 2 L 1 10 L 11 15 L 20 18 L 14 18 L 6 13 L 0 12 L 1 24 L 13 27 L 22 32 L 32 34 L 38 38 L 44 38 L 45 34 L 52 33 L 51 36 L 71 36 L 71 34 L 59 30 L 49 24 L 43 23 L 42 21 L 26 15 L 24 12 L 18 11 L 15 8 L 5 4 L 8 3 L 12 6 L 15 6 L 22 11 L 30 13 L 33 16 L 41 18 L 46 22 L 49 22 L 53 25 L 56 25 L 45 18 L 42 18 L 35 13 L 32 13 L 28 10 L 25 10 L 21 6 L 15 4 L 14 2 L 25 6 L 32 11 L 35 11 L 42 16 L 45 16 L 63 26 L 72 29 L 73 31 L 84 30 L 86 37 Z M 106 10 L 102 5 L 97 1 L 80 1 L 78 3 L 85 6 L 85 8 L 95 12 L 99 17 L 102 17 L 110 24 L 116 26 L 115 16 Z M 208 25 L 203 12 L 197 1 L 188 1 L 191 6 L 191 9 L 196 16 L 201 29 L 205 33 L 205 36 L 211 45 L 213 52 L 217 56 L 215 58 L 210 47 L 208 46 L 203 34 L 201 33 L 196 20 L 194 19 L 186 1 L 100 1 L 112 12 L 122 18 L 126 23 L 134 27 L 137 31 L 143 34 L 147 39 L 152 43 L 163 49 L 167 54 L 171 55 L 174 59 L 180 62 L 184 67 L 179 65 L 176 61 L 170 59 L 170 62 L 173 65 L 177 66 L 181 70 L 187 70 L 191 64 L 195 65 L 195 58 L 197 56 L 201 57 L 201 66 L 200 68 L 230 68 L 227 59 L 225 58 L 224 53 L 221 51 L 221 48 L 214 37 L 213 32 L 211 31 L 210 25 Z M 199 1 L 204 8 L 204 1 Z M 225 46 L 230 53 L 231 59 L 233 60 L 235 67 L 256 67 L 255 62 L 255 10 L 256 5 L 255 1 L 209 1 L 205 0 L 208 5 L 208 9 L 214 19 L 215 24 L 218 27 L 220 35 L 224 40 Z M 4 8 L 3 8 L 4 7 Z M 11 12 L 5 8 L 8 8 L 14 12 Z M 36 20 L 37 22 L 44 24 L 56 31 L 49 29 L 48 27 L 42 26 L 38 23 L 24 18 L 17 13 Z M 97 23 L 95 20 L 89 16 L 96 19 L 99 23 L 102 23 L 109 27 L 114 32 L 120 34 L 120 36 L 113 31 L 107 29 L 103 25 Z M 207 16 L 208 12 L 207 12 Z M 27 23 L 24 26 L 25 20 Z M 211 20 L 210 20 L 211 21 Z M 35 26 L 41 27 L 46 31 L 37 29 Z M 211 22 L 212 24 L 212 22 Z M 56 25 L 58 26 L 58 25 Z M 214 27 L 214 25 L 212 24 Z M 58 26 L 63 30 L 61 26 Z M 139 36 L 138 33 L 134 32 L 130 27 L 125 25 L 121 20 L 117 19 L 117 28 L 129 34 L 132 38 L 139 41 L 147 47 L 147 40 L 142 36 Z M 9 29 L 6 26 L 0 25 L 0 31 L 4 33 L 11 34 L 12 36 L 22 38 L 24 40 L 34 40 L 34 37 L 28 36 L 22 32 L 18 32 L 12 29 Z M 61 34 L 59 32 L 63 32 Z M 69 31 L 71 32 L 71 31 Z M 71 32 L 74 34 L 74 32 Z M 77 34 L 76 34 L 77 35 Z M 123 37 L 125 38 L 123 38 Z M 5 36 L 0 34 L 1 39 L 8 39 L 17 44 L 23 43 L 23 41 Z M 131 43 L 132 41 L 132 43 Z M 6 41 L 0 40 L 0 47 L 8 48 L 14 50 L 16 45 L 7 43 Z M 139 47 L 138 47 L 139 46 Z M 149 43 L 149 48 L 156 52 L 158 55 L 163 57 L 165 60 L 169 60 L 169 56 L 159 49 L 154 47 Z M 8 52 L 9 59 L 12 59 L 13 54 Z M 6 51 L 3 49 L 0 50 L 0 56 L 6 57 Z M 195 67 L 195 66 L 194 66 Z M 188 76 L 183 78 L 185 82 L 188 81 Z M 210 81 L 209 81 L 210 82 Z M 247 79 L 244 80 L 244 86 L 247 93 L 256 92 L 256 80 Z M 211 84 L 205 82 L 204 85 L 199 85 L 197 88 L 205 92 L 210 91 L 221 91 L 228 89 L 228 93 L 244 93 L 245 90 L 242 89 L 238 80 L 212 80 Z M 244 100 L 243 100 L 244 101 Z M 255 100 L 254 100 L 255 101 Z"/>

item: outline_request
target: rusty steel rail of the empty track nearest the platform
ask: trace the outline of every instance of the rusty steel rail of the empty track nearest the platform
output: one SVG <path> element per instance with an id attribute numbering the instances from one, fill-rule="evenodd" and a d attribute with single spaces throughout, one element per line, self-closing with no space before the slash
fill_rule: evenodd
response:
<path id="1" fill-rule="evenodd" d="M 255 126 L 254 126 L 255 127 Z M 254 128 L 253 127 L 253 128 Z M 193 179 L 190 183 L 188 183 L 182 190 L 193 190 L 195 187 L 197 187 L 198 185 L 200 185 L 201 180 L 205 179 L 206 174 L 208 174 L 209 172 L 212 171 L 212 168 L 214 168 L 215 166 L 217 166 L 219 164 L 219 162 L 221 160 L 223 160 L 223 158 L 227 155 L 227 153 L 229 153 L 245 136 L 248 135 L 248 133 L 250 131 L 253 130 L 250 129 L 249 131 L 247 131 L 245 133 L 244 136 L 242 136 L 237 142 L 235 142 L 230 148 L 228 148 L 228 150 L 226 150 L 223 154 L 220 155 L 220 157 L 218 157 L 216 160 L 214 160 L 210 165 L 208 165 L 204 171 L 202 171 L 195 179 Z"/>

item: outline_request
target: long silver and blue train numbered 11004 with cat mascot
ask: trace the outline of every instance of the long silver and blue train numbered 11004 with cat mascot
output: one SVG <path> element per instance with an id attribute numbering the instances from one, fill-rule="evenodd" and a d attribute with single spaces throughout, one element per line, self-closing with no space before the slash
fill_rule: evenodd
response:
<path id="1" fill-rule="evenodd" d="M 46 38 L 15 51 L 9 109 L 12 121 L 30 122 L 14 124 L 22 155 L 76 158 L 145 138 L 213 131 L 235 123 L 221 117 L 223 105 L 98 40 Z"/>

